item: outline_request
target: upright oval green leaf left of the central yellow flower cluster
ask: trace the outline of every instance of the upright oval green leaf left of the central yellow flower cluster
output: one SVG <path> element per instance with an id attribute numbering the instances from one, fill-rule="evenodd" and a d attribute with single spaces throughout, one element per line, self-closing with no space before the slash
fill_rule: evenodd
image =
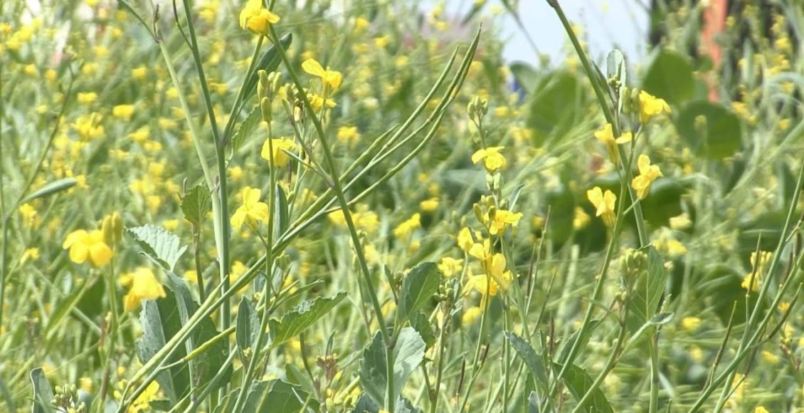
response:
<path id="1" fill-rule="evenodd" d="M 433 298 L 438 291 L 441 274 L 435 262 L 422 262 L 402 280 L 399 310 L 396 312 L 396 328 L 400 328 L 413 313 Z"/>

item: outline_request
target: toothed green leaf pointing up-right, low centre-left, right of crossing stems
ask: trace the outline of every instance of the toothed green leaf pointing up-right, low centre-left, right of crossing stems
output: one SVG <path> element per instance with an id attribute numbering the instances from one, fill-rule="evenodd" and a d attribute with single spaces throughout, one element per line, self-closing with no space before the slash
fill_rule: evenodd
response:
<path id="1" fill-rule="evenodd" d="M 293 311 L 285 313 L 281 320 L 269 320 L 271 345 L 275 347 L 298 336 L 301 332 L 310 328 L 319 318 L 330 312 L 346 296 L 347 292 L 341 291 L 333 297 L 308 299 L 297 305 Z"/>

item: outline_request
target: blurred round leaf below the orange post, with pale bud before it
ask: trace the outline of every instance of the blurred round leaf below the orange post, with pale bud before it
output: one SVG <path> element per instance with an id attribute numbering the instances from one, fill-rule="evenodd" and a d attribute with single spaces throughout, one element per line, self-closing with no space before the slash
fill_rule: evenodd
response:
<path id="1" fill-rule="evenodd" d="M 708 159 L 728 158 L 742 146 L 740 118 L 720 103 L 692 101 L 684 105 L 675 128 L 695 154 Z"/>

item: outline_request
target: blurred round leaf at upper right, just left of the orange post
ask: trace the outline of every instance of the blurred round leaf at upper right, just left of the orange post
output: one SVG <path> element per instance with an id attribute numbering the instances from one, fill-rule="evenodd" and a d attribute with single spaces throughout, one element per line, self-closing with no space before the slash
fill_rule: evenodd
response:
<path id="1" fill-rule="evenodd" d="M 692 64 L 677 52 L 662 50 L 642 77 L 642 89 L 671 105 L 680 105 L 695 93 Z"/>

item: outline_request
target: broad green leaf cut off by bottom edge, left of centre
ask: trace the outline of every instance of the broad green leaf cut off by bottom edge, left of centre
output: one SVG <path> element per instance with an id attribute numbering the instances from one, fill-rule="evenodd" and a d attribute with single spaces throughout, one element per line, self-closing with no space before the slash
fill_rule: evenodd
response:
<path id="1" fill-rule="evenodd" d="M 301 410 L 302 407 L 306 408 Z M 289 382 L 271 380 L 254 382 L 242 411 L 250 413 L 297 413 L 318 411 L 318 402 L 310 394 Z"/>

